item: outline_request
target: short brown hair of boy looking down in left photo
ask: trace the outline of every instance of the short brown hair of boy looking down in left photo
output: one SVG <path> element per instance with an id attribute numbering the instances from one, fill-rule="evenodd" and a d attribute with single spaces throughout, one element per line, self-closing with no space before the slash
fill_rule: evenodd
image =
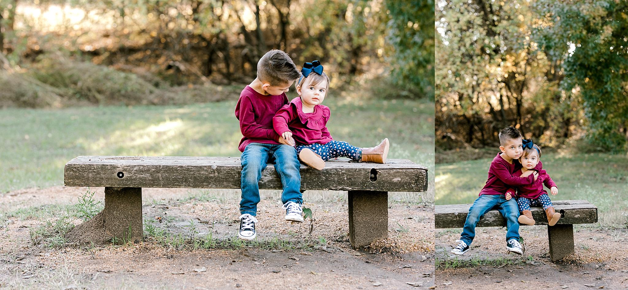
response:
<path id="1" fill-rule="evenodd" d="M 300 75 L 295 63 L 283 50 L 270 50 L 257 62 L 257 79 L 271 86 L 291 83 Z"/>

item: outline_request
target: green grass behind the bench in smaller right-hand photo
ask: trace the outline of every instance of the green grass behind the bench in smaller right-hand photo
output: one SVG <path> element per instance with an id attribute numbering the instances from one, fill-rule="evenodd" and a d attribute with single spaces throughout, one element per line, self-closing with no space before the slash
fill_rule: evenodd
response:
<path id="1" fill-rule="evenodd" d="M 473 203 L 486 182 L 491 160 L 439 163 L 436 204 Z M 628 155 L 551 152 L 541 161 L 558 185 L 552 200 L 587 199 L 598 207 L 598 225 L 628 225 Z"/>

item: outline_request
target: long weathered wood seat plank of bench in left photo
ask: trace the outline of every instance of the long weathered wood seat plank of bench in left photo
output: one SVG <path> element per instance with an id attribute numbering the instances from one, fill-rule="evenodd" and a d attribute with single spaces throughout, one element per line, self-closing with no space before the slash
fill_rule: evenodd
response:
<path id="1" fill-rule="evenodd" d="M 301 165 L 302 190 L 427 190 L 427 168 L 409 160 L 386 164 L 330 160 L 325 169 Z M 233 157 L 80 156 L 65 165 L 65 186 L 240 188 L 241 163 Z M 260 189 L 281 189 L 273 165 L 268 165 Z"/>

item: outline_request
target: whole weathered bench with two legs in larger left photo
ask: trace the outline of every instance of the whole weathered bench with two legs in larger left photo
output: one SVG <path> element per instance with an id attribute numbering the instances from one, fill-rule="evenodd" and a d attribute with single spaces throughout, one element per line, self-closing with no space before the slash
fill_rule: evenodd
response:
<path id="1" fill-rule="evenodd" d="M 320 171 L 301 165 L 301 191 L 349 191 L 349 241 L 360 248 L 387 238 L 387 192 L 426 191 L 428 172 L 403 159 L 386 164 L 347 160 L 330 160 Z M 142 187 L 239 189 L 241 170 L 240 159 L 233 157 L 77 157 L 65 165 L 65 186 L 105 187 L 105 208 L 67 237 L 138 242 L 143 237 Z M 259 188 L 281 189 L 272 165 L 262 173 Z M 307 201 L 307 193 L 304 197 Z"/>

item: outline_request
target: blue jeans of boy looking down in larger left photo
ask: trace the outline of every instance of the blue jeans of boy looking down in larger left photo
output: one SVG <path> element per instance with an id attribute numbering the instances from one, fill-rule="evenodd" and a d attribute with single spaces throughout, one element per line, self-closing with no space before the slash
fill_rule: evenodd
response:
<path id="1" fill-rule="evenodd" d="M 264 143 L 251 143 L 246 145 L 242 157 L 242 201 L 240 201 L 240 213 L 257 215 L 257 203 L 259 203 L 259 179 L 262 177 L 262 170 L 267 163 L 273 163 L 275 170 L 281 179 L 283 192 L 281 192 L 281 203 L 293 201 L 303 204 L 303 194 L 301 194 L 301 164 L 296 158 L 295 147 L 289 145 L 276 145 Z"/>

